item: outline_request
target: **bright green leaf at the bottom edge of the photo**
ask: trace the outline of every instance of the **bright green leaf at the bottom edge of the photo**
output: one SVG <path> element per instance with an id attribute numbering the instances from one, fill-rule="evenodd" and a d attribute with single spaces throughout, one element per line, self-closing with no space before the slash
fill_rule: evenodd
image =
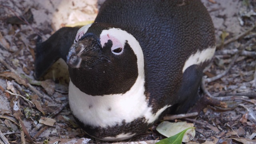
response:
<path id="1" fill-rule="evenodd" d="M 159 142 L 157 142 L 156 144 L 181 144 L 182 143 L 182 138 L 185 134 L 185 132 L 191 128 L 195 128 L 195 127 L 190 127 L 190 128 L 187 128 L 185 130 L 183 130 L 182 132 L 174 135 L 174 136 L 171 136 L 169 138 L 165 138 L 165 139 L 162 139 L 160 140 Z"/>

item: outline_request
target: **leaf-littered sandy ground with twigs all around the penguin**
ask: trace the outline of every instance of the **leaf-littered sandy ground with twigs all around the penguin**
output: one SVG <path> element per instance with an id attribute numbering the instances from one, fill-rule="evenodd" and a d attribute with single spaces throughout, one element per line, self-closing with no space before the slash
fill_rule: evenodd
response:
<path id="1" fill-rule="evenodd" d="M 4 141 L 1 134 L 14 144 L 25 143 L 23 138 L 29 141 L 29 136 L 36 143 L 111 143 L 86 135 L 75 123 L 68 107 L 68 74 L 60 70 L 65 67 L 63 60 L 42 80 L 33 77 L 38 36 L 44 41 L 63 26 L 92 22 L 103 2 L 0 0 L 0 143 Z M 214 22 L 217 44 L 202 87 L 206 99 L 223 103 L 205 100 L 206 106 L 197 116 L 172 122 L 194 123 L 196 136 L 191 142 L 254 144 L 256 0 L 202 2 Z M 213 80 L 214 76 L 220 77 Z M 126 142 L 149 144 L 165 138 L 156 126 Z"/>

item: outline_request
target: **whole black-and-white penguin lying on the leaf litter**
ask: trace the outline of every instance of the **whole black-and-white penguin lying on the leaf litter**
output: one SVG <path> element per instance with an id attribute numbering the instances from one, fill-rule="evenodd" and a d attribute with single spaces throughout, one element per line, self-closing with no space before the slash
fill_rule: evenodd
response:
<path id="1" fill-rule="evenodd" d="M 35 77 L 66 60 L 78 124 L 100 140 L 125 140 L 195 102 L 215 48 L 200 0 L 106 0 L 94 23 L 38 44 Z"/>

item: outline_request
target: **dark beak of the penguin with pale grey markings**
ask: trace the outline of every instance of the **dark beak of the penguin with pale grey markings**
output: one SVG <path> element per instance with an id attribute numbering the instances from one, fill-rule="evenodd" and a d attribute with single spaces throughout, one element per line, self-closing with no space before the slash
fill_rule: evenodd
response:
<path id="1" fill-rule="evenodd" d="M 97 40 L 85 37 L 74 43 L 67 55 L 67 64 L 71 68 L 91 68 L 98 62 L 106 60 Z"/>

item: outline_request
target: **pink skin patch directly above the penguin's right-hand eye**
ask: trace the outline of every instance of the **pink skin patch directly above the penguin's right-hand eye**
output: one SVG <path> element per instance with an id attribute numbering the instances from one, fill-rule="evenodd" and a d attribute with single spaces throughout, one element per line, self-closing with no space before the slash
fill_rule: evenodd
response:
<path id="1" fill-rule="evenodd" d="M 109 34 L 100 37 L 100 44 L 102 48 L 104 47 L 104 44 L 108 42 L 108 40 L 111 40 L 113 43 L 111 50 L 116 48 L 124 48 L 124 45 L 117 38 L 110 36 Z"/>

